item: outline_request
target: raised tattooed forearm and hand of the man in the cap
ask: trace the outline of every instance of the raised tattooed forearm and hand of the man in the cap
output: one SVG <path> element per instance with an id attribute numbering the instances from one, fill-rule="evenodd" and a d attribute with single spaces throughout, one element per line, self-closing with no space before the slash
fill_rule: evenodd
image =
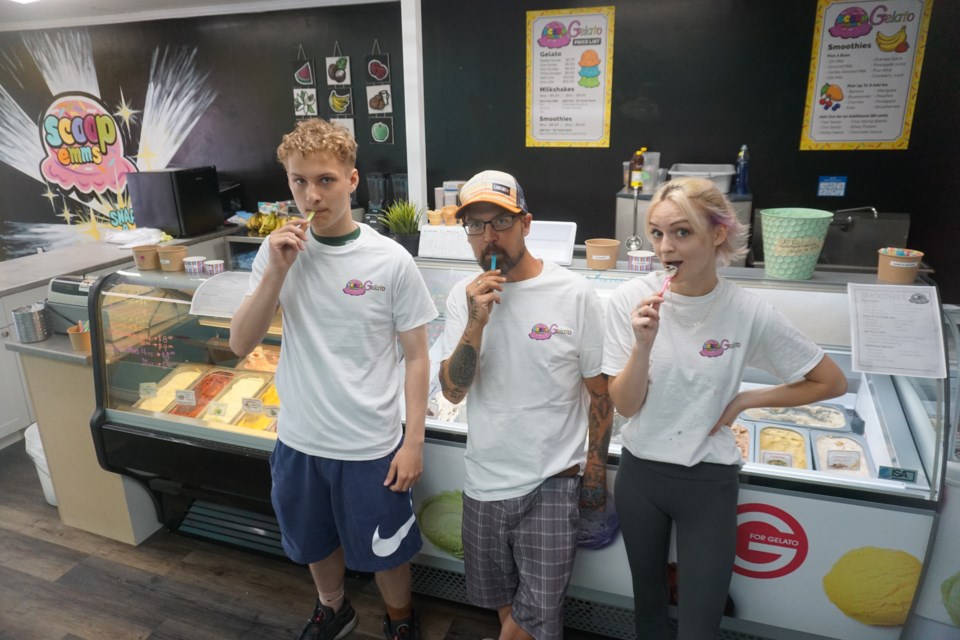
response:
<path id="1" fill-rule="evenodd" d="M 500 303 L 504 280 L 499 271 L 487 271 L 467 286 L 467 324 L 457 348 L 440 363 L 440 389 L 443 397 L 454 404 L 463 402 L 477 375 L 483 328 L 490 320 L 493 305 Z"/>

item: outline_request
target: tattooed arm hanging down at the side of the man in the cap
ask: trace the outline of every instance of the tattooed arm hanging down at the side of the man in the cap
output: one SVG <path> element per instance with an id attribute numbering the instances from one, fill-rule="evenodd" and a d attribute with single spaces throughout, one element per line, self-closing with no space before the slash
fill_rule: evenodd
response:
<path id="1" fill-rule="evenodd" d="M 590 393 L 590 417 L 587 424 L 587 464 L 580 486 L 580 506 L 604 511 L 607 500 L 607 452 L 613 425 L 613 403 L 607 391 L 607 376 L 584 378 Z"/>

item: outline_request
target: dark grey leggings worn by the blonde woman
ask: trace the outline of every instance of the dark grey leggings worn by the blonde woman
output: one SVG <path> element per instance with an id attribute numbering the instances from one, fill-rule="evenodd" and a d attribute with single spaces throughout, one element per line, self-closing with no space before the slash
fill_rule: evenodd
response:
<path id="1" fill-rule="evenodd" d="M 677 526 L 678 640 L 712 640 L 720 626 L 737 545 L 740 467 L 642 460 L 626 449 L 617 515 L 633 578 L 637 638 L 667 640 L 667 560 Z"/>

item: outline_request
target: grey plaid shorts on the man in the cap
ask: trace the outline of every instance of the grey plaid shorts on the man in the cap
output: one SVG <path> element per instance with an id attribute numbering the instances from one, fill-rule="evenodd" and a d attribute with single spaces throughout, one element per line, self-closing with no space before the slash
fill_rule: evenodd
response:
<path id="1" fill-rule="evenodd" d="M 548 478 L 519 498 L 463 496 L 463 551 L 470 601 L 513 606 L 537 640 L 563 637 L 563 598 L 573 573 L 580 478 Z"/>

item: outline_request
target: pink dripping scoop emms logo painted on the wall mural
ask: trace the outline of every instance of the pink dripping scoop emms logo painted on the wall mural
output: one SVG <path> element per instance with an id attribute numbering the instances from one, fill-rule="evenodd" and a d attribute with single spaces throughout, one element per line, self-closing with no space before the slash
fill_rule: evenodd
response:
<path id="1" fill-rule="evenodd" d="M 133 225 L 133 213 L 124 206 L 126 174 L 137 169 L 124 156 L 117 123 L 96 98 L 81 93 L 54 99 L 40 124 L 46 157 L 40 173 L 67 193 L 92 195 L 111 205 L 113 226 Z M 105 193 L 116 194 L 102 197 Z"/>

